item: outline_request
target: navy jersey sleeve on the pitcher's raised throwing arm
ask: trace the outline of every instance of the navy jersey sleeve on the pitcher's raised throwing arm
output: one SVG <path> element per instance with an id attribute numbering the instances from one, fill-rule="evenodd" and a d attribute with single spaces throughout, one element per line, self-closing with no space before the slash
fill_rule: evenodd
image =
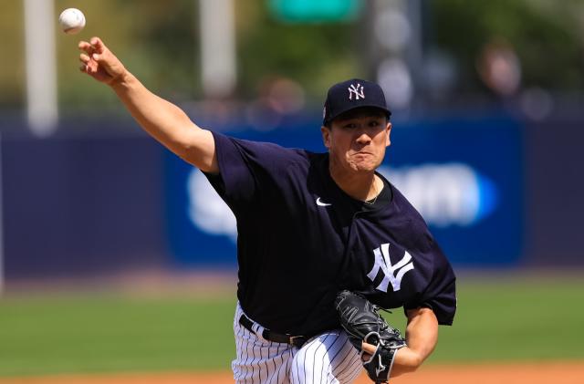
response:
<path id="1" fill-rule="evenodd" d="M 219 174 L 204 173 L 235 213 L 245 212 L 284 173 L 294 151 L 273 143 L 240 140 L 213 132 Z"/>

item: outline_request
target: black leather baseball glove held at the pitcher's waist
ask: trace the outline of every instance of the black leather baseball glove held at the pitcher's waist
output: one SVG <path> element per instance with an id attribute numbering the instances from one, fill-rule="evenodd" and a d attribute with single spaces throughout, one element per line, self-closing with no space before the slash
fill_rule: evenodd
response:
<path id="1" fill-rule="evenodd" d="M 335 300 L 339 312 L 340 325 L 349 334 L 351 344 L 360 350 L 363 367 L 370 379 L 376 383 L 385 383 L 390 379 L 391 366 L 395 351 L 405 347 L 405 340 L 400 331 L 391 327 L 365 297 L 350 291 L 341 291 Z M 376 347 L 370 358 L 364 359 L 362 343 Z"/>

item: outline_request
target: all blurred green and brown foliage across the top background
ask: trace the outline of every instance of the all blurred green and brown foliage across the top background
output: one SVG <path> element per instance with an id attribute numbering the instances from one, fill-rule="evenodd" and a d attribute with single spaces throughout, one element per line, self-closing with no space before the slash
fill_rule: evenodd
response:
<path id="1" fill-rule="evenodd" d="M 203 99 L 200 78 L 198 2 L 193 0 L 56 0 L 60 10 L 75 6 L 87 18 L 78 36 L 56 30 L 58 98 L 63 112 L 119 111 L 108 88 L 90 86 L 78 74 L 79 38 L 101 36 L 154 92 L 174 100 Z M 424 56 L 440 52 L 454 73 L 451 95 L 493 95 L 481 77 L 480 60 L 489 45 L 516 55 L 520 87 L 579 92 L 584 86 L 584 2 L 564 0 L 422 1 Z M 138 11 L 139 10 L 139 11 Z M 288 78 L 319 104 L 323 89 L 340 78 L 367 73 L 366 12 L 339 23 L 284 23 L 266 0 L 236 2 L 238 79 L 234 99 L 255 99 L 266 81 Z M 3 36 L 0 109 L 25 103 L 24 16 L 21 1 L 0 5 Z M 43 58 L 38 57 L 38 65 Z M 423 92 L 423 89 L 422 89 Z M 495 92 L 496 93 L 496 92 Z"/>

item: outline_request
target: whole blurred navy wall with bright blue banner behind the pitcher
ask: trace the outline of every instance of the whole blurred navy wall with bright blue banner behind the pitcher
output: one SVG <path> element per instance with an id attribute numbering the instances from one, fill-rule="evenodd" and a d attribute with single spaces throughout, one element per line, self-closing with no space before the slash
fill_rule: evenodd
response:
<path id="1" fill-rule="evenodd" d="M 113 132 L 122 123 L 108 124 Z M 505 117 L 396 121 L 381 171 L 422 205 L 455 265 L 584 265 L 580 127 Z M 235 135 L 323 149 L 314 125 Z M 199 171 L 144 134 L 11 135 L 1 145 L 9 280 L 235 265 L 233 219 L 204 200 L 210 187 Z M 420 180 L 444 178 L 448 193 L 439 183 L 419 193 Z"/>

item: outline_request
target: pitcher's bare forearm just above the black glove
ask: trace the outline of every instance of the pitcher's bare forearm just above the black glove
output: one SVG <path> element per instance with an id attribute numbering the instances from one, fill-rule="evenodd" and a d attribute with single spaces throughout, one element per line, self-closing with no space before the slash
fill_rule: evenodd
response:
<path id="1" fill-rule="evenodd" d="M 432 309 L 420 308 L 414 311 L 406 329 L 408 346 L 397 351 L 391 369 L 392 378 L 419 368 L 438 342 L 438 320 Z"/>

